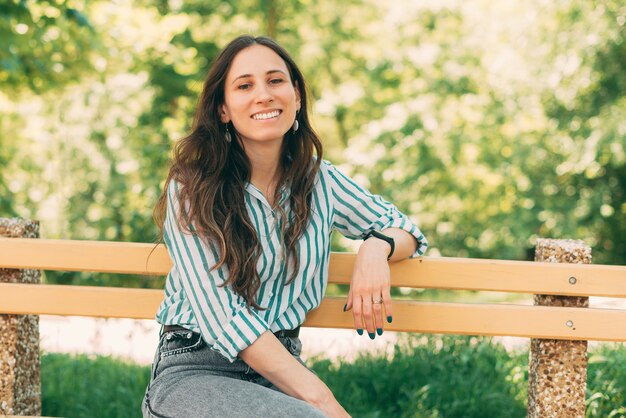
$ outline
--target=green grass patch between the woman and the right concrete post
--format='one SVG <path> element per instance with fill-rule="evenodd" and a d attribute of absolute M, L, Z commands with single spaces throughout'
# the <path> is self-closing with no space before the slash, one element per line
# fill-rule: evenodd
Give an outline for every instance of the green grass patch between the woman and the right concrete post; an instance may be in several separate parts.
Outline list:
<path fill-rule="evenodd" d="M 486 338 L 408 336 L 390 359 L 312 368 L 354 417 L 523 417 L 525 363 Z"/>

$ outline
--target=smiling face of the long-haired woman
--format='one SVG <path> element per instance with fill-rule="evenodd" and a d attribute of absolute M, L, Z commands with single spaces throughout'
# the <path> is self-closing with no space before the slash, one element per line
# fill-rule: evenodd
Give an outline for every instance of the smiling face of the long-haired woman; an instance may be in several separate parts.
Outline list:
<path fill-rule="evenodd" d="M 224 85 L 222 122 L 232 121 L 244 141 L 282 141 L 300 110 L 285 61 L 270 48 L 252 45 L 233 60 Z"/>

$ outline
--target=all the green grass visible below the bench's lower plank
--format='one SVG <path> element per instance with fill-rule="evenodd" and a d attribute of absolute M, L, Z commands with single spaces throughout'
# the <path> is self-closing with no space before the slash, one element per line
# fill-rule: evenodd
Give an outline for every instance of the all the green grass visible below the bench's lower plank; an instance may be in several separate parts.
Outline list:
<path fill-rule="evenodd" d="M 489 338 L 403 334 L 393 356 L 308 364 L 355 418 L 526 416 L 528 353 Z M 150 368 L 107 356 L 43 354 L 43 414 L 140 417 Z M 590 351 L 587 417 L 626 417 L 626 346 Z"/>

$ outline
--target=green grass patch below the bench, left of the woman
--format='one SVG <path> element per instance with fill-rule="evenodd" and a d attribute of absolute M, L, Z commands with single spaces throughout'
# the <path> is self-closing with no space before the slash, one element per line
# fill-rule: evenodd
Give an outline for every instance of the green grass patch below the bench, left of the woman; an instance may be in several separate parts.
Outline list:
<path fill-rule="evenodd" d="M 43 354 L 43 415 L 73 418 L 140 417 L 141 400 L 149 381 L 149 367 L 111 357 Z"/>

